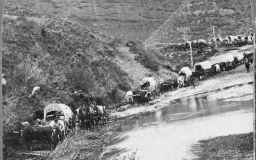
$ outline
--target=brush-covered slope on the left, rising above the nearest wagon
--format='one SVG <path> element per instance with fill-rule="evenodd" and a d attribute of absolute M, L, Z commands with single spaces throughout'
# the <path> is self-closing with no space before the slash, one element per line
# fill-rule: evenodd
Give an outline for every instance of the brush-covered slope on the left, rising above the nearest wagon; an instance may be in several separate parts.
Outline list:
<path fill-rule="evenodd" d="M 42 28 L 46 36 L 41 35 Z M 115 45 L 67 20 L 5 18 L 4 125 L 16 120 L 32 122 L 36 111 L 51 102 L 74 109 L 89 100 L 99 105 L 122 100 L 131 79 L 113 60 L 118 54 Z M 40 91 L 31 96 L 35 86 Z M 84 96 L 74 94 L 77 90 Z"/>

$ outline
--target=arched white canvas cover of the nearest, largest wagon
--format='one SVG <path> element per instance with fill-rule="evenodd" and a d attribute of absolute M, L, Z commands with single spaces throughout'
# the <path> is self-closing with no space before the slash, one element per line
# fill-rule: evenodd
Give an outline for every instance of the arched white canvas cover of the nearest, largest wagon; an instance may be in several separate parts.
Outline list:
<path fill-rule="evenodd" d="M 52 103 L 44 108 L 44 118 L 46 118 L 47 113 L 49 113 L 51 111 L 62 112 L 63 115 L 65 116 L 66 121 L 68 121 L 69 118 L 72 118 L 72 115 L 73 115 L 72 110 L 65 104 Z"/>

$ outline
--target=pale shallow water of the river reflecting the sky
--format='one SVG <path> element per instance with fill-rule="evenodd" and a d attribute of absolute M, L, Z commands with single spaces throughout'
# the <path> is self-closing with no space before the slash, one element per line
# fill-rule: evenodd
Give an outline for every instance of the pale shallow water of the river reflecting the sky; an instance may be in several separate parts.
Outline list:
<path fill-rule="evenodd" d="M 241 99 L 253 94 L 253 90 L 244 92 L 251 87 L 240 85 L 173 100 L 167 108 L 137 120 L 131 131 L 111 137 L 103 159 L 122 159 L 137 149 L 140 159 L 194 159 L 191 146 L 198 140 L 252 132 L 253 113 L 246 108 L 252 108 L 253 99 Z M 232 98 L 240 99 L 227 100 Z"/>

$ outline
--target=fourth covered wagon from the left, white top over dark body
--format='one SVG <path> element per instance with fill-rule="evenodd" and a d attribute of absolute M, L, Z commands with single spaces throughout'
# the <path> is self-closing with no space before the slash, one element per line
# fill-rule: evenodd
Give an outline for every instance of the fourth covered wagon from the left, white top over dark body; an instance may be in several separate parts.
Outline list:
<path fill-rule="evenodd" d="M 209 61 L 195 63 L 195 72 L 198 72 L 200 77 L 214 76 L 212 65 Z M 193 74 L 193 73 L 192 73 Z"/>

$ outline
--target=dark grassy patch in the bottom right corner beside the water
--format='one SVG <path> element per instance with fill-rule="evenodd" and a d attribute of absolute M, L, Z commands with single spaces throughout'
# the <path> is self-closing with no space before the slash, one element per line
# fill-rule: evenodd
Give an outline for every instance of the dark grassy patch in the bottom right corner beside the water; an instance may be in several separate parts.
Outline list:
<path fill-rule="evenodd" d="M 253 132 L 200 140 L 193 150 L 198 159 L 253 159 Z"/>

